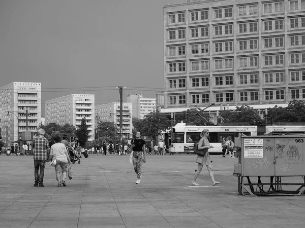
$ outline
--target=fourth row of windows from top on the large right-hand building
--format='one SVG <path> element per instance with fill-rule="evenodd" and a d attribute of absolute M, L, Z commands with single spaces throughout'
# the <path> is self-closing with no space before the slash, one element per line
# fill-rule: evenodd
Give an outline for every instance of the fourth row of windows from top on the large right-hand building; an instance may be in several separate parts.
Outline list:
<path fill-rule="evenodd" d="M 289 54 L 289 64 L 299 64 L 305 63 L 305 52 L 303 53 L 290 53 Z M 233 69 L 233 58 L 223 58 L 223 59 L 214 59 L 213 60 L 214 70 L 224 70 L 224 69 Z M 262 57 L 263 67 L 268 66 L 284 66 L 284 54 L 272 54 L 264 55 Z M 258 68 L 258 56 L 243 56 L 237 57 L 237 69 L 242 68 Z M 168 63 L 168 72 L 177 73 L 177 72 L 186 72 L 186 62 L 169 62 Z M 190 72 L 200 72 L 200 71 L 210 71 L 209 59 L 203 60 L 190 60 Z"/>

